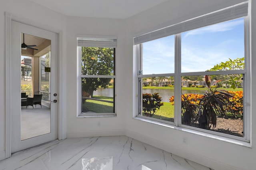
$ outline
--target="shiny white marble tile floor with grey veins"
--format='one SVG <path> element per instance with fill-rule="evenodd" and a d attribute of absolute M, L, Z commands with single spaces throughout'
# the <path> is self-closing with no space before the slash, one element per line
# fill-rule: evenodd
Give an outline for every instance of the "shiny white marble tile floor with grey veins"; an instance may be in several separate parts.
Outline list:
<path fill-rule="evenodd" d="M 211 170 L 127 136 L 67 138 L 0 161 L 0 170 Z"/>

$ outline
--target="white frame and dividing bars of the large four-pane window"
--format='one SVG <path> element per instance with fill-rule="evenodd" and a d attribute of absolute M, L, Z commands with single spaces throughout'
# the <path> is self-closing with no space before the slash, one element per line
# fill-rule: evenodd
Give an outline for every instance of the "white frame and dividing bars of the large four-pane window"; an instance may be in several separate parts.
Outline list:
<path fill-rule="evenodd" d="M 248 2 L 246 2 L 248 3 Z M 232 8 L 232 7 L 231 7 Z M 207 14 L 206 14 L 207 15 Z M 204 15 L 205 16 L 205 15 Z M 204 17 L 203 16 L 203 17 Z M 250 13 L 248 12 L 247 16 L 243 16 L 244 17 L 244 69 L 243 70 L 230 70 L 230 71 L 207 71 L 207 75 L 223 75 L 223 74 L 244 74 L 244 88 L 243 88 L 243 93 L 244 93 L 244 119 L 243 119 L 243 128 L 244 128 L 244 136 L 243 137 L 239 137 L 239 136 L 234 136 L 234 135 L 229 135 L 229 134 L 224 134 L 224 133 L 220 133 L 220 132 L 214 132 L 214 131 L 210 131 L 210 130 L 206 130 L 206 129 L 201 129 L 201 128 L 196 128 L 196 127 L 190 127 L 188 125 L 182 125 L 182 116 L 181 116 L 181 93 L 182 93 L 182 89 L 181 89 L 181 77 L 182 76 L 190 76 L 190 75 L 206 75 L 205 71 L 199 71 L 199 72 L 181 72 L 181 34 L 177 33 L 177 34 L 172 34 L 175 35 L 175 55 L 174 55 L 174 73 L 167 73 L 167 74 L 150 74 L 150 75 L 142 75 L 140 74 L 140 68 L 142 68 L 142 45 L 144 42 L 142 43 L 136 43 L 136 41 L 140 41 L 140 40 L 135 40 L 134 38 L 134 44 L 135 44 L 135 49 L 136 49 L 136 59 L 137 59 L 137 79 L 138 79 L 138 113 L 136 114 L 135 117 L 138 117 L 140 119 L 144 119 L 144 120 L 150 120 L 150 121 L 154 121 L 157 122 L 157 124 L 159 125 L 159 123 L 163 123 L 160 125 L 166 126 L 166 124 L 170 125 L 171 127 L 174 128 L 186 128 L 188 129 L 188 131 L 192 132 L 192 131 L 196 131 L 196 133 L 198 132 L 202 132 L 202 133 L 206 133 L 207 136 L 208 134 L 210 136 L 212 135 L 216 135 L 216 136 L 221 136 L 224 138 L 231 138 L 234 140 L 240 140 L 243 142 L 250 142 L 250 133 L 251 133 L 251 123 L 250 123 L 250 117 L 251 117 L 251 107 L 250 107 L 250 103 L 251 103 L 251 55 L 250 55 Z M 200 18 L 200 17 L 198 17 Z M 197 18 L 197 19 L 198 19 Z M 237 18 L 242 18 L 242 17 L 237 17 Z M 233 18 L 236 19 L 236 18 Z M 231 20 L 233 20 L 231 19 Z M 193 20 L 193 19 L 191 19 Z M 190 21 L 190 20 L 189 20 Z M 228 20 L 227 20 L 228 21 Z M 217 22 L 215 24 L 221 23 L 223 21 Z M 182 22 L 183 24 L 186 24 L 185 22 Z M 214 25 L 214 24 L 210 24 L 210 25 Z M 163 28 L 166 29 L 166 28 Z M 198 28 L 196 28 L 198 29 Z M 161 30 L 161 29 L 160 29 Z M 193 29 L 192 29 L 193 30 Z M 159 31 L 159 30 L 157 30 Z M 156 32 L 157 32 L 156 31 Z M 189 31 L 189 30 L 186 30 Z M 150 35 L 151 33 L 148 33 L 148 35 Z M 146 35 L 146 34 L 145 34 Z M 144 35 L 143 35 L 144 36 Z M 166 37 L 166 36 L 170 36 L 170 35 L 165 35 L 162 37 Z M 141 36 L 139 36 L 140 38 Z M 145 36 L 144 36 L 145 37 Z M 160 37 L 160 38 L 162 38 Z M 147 39 L 147 38 L 145 38 Z M 154 39 L 153 39 L 154 40 Z M 142 40 L 143 41 L 143 40 Z M 152 39 L 148 39 L 145 42 L 148 41 L 152 41 Z M 154 118 L 150 118 L 150 117 L 145 117 L 142 116 L 140 113 L 142 113 L 142 82 L 140 81 L 143 77 L 162 77 L 162 76 L 174 76 L 174 103 L 175 103 L 175 107 L 174 107 L 174 122 L 169 122 L 169 121 L 163 121 L 160 119 L 154 119 Z"/>

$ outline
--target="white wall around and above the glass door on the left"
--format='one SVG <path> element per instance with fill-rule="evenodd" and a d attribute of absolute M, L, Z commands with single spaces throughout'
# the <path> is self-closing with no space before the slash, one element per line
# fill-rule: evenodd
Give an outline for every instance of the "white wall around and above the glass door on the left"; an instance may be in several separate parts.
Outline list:
<path fill-rule="evenodd" d="M 5 157 L 5 39 L 4 39 L 4 12 L 12 14 L 22 22 L 38 26 L 40 28 L 48 28 L 54 32 L 59 30 L 65 33 L 65 18 L 57 12 L 53 12 L 48 8 L 44 8 L 29 0 L 1 0 L 0 2 L 0 160 Z M 61 42 L 65 46 L 66 39 Z M 65 48 L 66 49 L 66 48 Z M 62 57 L 66 57 L 63 53 Z M 62 113 L 65 115 L 65 112 Z M 65 122 L 65 116 L 64 120 Z M 64 132 L 66 127 L 64 127 Z"/>

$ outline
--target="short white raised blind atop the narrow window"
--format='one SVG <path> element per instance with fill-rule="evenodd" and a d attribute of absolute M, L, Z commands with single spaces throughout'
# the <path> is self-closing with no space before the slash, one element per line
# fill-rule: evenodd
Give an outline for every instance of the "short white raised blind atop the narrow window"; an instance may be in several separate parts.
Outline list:
<path fill-rule="evenodd" d="M 116 48 L 117 40 L 104 38 L 77 38 L 77 45 L 80 47 Z"/>

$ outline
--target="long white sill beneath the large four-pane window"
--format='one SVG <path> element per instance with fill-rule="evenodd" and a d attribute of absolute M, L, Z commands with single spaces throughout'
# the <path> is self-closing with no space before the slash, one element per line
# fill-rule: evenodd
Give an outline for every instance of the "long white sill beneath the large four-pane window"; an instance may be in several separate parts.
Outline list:
<path fill-rule="evenodd" d="M 152 120 L 144 119 L 144 118 L 141 118 L 141 117 L 134 117 L 133 119 L 148 122 L 148 123 L 152 123 L 152 124 L 155 124 L 155 125 L 160 125 L 160 126 L 163 126 L 163 127 L 176 129 L 176 130 L 181 130 L 183 132 L 188 132 L 188 133 L 193 133 L 193 134 L 197 134 L 197 135 L 200 135 L 200 136 L 205 136 L 205 137 L 208 137 L 208 138 L 222 140 L 224 142 L 229 142 L 229 143 L 232 143 L 232 144 L 238 144 L 240 146 L 245 146 L 245 147 L 248 147 L 248 148 L 252 148 L 252 145 L 250 144 L 250 142 L 244 142 L 244 141 L 240 141 L 240 140 L 236 140 L 236 139 L 231 139 L 231 138 L 227 138 L 227 137 L 223 137 L 223 136 L 218 136 L 218 135 L 215 135 L 215 134 L 200 132 L 200 131 L 192 130 L 192 129 L 189 129 L 189 128 L 176 127 L 175 125 L 169 125 L 169 124 L 166 124 L 166 123 L 161 123 L 161 122 L 158 122 L 158 121 L 152 121 Z"/>

